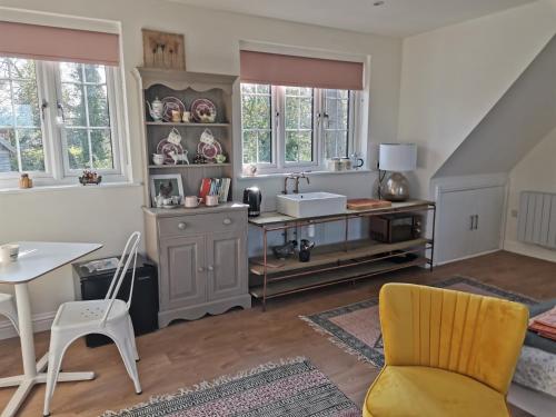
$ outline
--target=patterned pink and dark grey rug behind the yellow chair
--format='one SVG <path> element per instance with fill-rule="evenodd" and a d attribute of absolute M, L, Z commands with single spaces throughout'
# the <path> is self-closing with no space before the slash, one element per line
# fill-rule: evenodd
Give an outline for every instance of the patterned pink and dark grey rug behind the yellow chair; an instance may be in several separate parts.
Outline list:
<path fill-rule="evenodd" d="M 433 284 L 433 287 L 449 288 L 459 291 L 505 298 L 512 301 L 534 305 L 527 296 L 506 291 L 473 278 L 451 277 Z M 384 349 L 378 317 L 378 298 L 338 307 L 311 316 L 301 316 L 317 331 L 329 336 L 329 340 L 360 360 L 379 368 L 384 366 Z"/>

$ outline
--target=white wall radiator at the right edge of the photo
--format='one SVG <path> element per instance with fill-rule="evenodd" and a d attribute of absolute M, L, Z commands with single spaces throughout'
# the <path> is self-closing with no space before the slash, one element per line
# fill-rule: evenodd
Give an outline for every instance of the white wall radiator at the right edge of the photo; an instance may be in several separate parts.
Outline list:
<path fill-rule="evenodd" d="M 556 249 L 556 195 L 522 191 L 517 239 Z"/>

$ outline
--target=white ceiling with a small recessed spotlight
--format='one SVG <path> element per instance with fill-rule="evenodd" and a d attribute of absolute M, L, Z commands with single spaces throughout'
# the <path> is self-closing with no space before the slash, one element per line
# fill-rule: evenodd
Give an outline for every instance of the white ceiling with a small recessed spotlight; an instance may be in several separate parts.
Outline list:
<path fill-rule="evenodd" d="M 300 23 L 407 37 L 534 0 L 172 0 Z"/>

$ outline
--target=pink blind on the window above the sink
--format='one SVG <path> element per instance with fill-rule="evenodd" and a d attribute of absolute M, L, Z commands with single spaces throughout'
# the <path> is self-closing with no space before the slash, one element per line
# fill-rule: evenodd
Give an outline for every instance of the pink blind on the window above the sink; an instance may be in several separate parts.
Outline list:
<path fill-rule="evenodd" d="M 240 51 L 241 81 L 275 86 L 363 90 L 363 63 Z"/>

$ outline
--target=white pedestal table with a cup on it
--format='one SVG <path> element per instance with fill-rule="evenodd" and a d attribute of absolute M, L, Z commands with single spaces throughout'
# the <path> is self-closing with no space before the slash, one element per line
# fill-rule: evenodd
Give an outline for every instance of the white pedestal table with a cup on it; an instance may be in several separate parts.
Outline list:
<path fill-rule="evenodd" d="M 28 284 L 102 247 L 99 244 L 43 241 L 20 241 L 18 244 L 20 245 L 18 261 L 0 264 L 0 282 L 13 285 L 16 288 L 23 375 L 0 379 L 0 388 L 19 386 L 3 409 L 1 417 L 14 416 L 32 387 L 47 381 L 47 374 L 43 370 L 48 365 L 48 353 L 39 361 L 37 361 L 34 354 Z M 60 373 L 58 380 L 71 381 L 93 378 L 95 373 Z"/>

